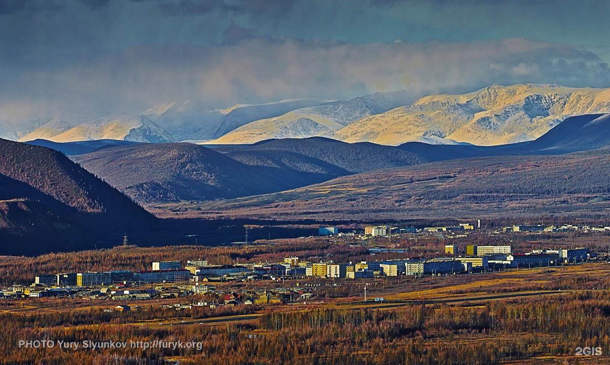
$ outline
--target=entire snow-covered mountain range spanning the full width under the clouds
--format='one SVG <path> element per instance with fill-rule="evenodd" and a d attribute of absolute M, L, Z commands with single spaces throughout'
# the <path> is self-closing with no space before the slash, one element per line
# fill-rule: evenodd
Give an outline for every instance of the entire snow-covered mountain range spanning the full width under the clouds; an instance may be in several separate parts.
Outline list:
<path fill-rule="evenodd" d="M 567 117 L 610 112 L 610 89 L 490 85 L 462 95 L 421 96 L 406 90 L 348 101 L 290 99 L 228 109 L 190 99 L 140 114 L 38 116 L 21 122 L 0 118 L 0 137 L 220 145 L 319 136 L 382 145 L 503 145 L 534 140 Z"/>

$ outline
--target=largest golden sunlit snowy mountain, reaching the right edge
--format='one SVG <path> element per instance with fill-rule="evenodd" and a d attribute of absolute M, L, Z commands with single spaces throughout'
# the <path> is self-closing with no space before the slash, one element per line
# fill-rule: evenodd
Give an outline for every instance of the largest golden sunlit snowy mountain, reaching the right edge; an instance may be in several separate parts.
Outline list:
<path fill-rule="evenodd" d="M 334 137 L 386 145 L 423 139 L 500 145 L 536 139 L 573 115 L 602 112 L 610 112 L 610 89 L 491 85 L 463 95 L 426 96 L 410 106 L 362 118 Z"/>

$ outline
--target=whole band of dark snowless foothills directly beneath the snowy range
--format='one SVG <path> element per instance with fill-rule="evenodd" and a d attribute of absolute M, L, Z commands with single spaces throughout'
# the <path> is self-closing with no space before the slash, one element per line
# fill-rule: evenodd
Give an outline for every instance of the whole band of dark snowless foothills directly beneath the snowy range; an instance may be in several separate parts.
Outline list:
<path fill-rule="evenodd" d="M 129 197 L 142 204 L 161 204 L 260 195 L 354 173 L 447 159 L 592 150 L 610 145 L 603 132 L 606 128 L 610 128 L 606 114 L 570 117 L 537 140 L 501 146 L 421 142 L 385 146 L 323 137 L 207 147 L 190 143 L 32 143 L 79 154 L 72 157 L 74 161 Z"/>

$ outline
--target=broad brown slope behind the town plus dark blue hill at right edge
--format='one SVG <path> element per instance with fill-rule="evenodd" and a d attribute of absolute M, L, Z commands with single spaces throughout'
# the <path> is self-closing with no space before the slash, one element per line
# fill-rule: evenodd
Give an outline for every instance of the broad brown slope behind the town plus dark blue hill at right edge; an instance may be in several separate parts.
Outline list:
<path fill-rule="evenodd" d="M 537 140 L 514 145 L 406 143 L 397 148 L 417 150 L 439 162 L 346 175 L 254 197 L 181 204 L 181 214 L 371 221 L 477 215 L 606 217 L 608 128 L 610 115 L 583 115 L 566 119 Z"/>

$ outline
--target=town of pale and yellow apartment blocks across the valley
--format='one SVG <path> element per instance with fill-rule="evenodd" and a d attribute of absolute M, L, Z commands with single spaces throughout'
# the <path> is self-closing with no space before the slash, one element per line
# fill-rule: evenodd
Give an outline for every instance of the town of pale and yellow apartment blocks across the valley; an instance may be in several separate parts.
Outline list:
<path fill-rule="evenodd" d="M 493 229 L 487 234 L 559 233 L 570 231 L 608 231 L 610 227 L 592 226 L 525 226 L 515 225 Z M 459 223 L 456 226 L 424 228 L 397 228 L 392 226 L 365 226 L 363 231 L 339 232 L 334 226 L 323 226 L 320 237 L 348 239 L 354 242 L 392 237 L 426 237 L 441 235 L 443 239 L 468 237 L 468 233 L 483 231 L 480 221 Z M 127 242 L 127 237 L 124 237 Z M 373 255 L 391 252 L 408 255 L 404 248 L 376 245 L 368 249 Z M 441 248 L 442 250 L 442 248 Z M 109 270 L 106 272 L 37 273 L 29 286 L 12 285 L 0 290 L 4 300 L 43 297 L 88 298 L 91 300 L 138 301 L 157 298 L 179 298 L 204 294 L 207 300 L 182 304 L 190 306 L 267 305 L 298 303 L 314 300 L 320 285 L 337 286 L 337 280 L 383 280 L 405 277 L 417 280 L 424 276 L 469 275 L 506 270 L 524 270 L 534 267 L 558 267 L 587 261 L 598 261 L 588 247 L 548 247 L 529 251 L 515 251 L 511 245 L 445 244 L 443 255 L 437 257 L 404 257 L 380 260 L 318 262 L 288 256 L 281 262 L 240 264 L 214 264 L 206 259 L 151 262 L 149 270 Z M 325 280 L 325 281 L 324 281 Z M 226 290 L 226 283 L 274 283 L 272 289 L 265 284 L 242 292 Z M 363 287 L 363 300 L 367 300 Z M 382 300 L 382 298 L 375 298 Z"/>

